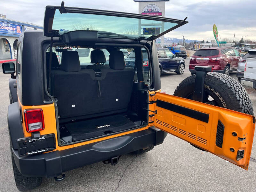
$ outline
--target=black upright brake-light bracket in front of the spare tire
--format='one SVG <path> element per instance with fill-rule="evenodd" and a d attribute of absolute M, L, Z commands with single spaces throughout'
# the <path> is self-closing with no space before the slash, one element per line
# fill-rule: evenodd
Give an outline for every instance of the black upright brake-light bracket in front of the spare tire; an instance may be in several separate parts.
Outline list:
<path fill-rule="evenodd" d="M 204 100 L 204 78 L 208 72 L 212 72 L 212 67 L 195 66 L 196 79 L 193 92 L 193 100 L 203 102 Z"/>

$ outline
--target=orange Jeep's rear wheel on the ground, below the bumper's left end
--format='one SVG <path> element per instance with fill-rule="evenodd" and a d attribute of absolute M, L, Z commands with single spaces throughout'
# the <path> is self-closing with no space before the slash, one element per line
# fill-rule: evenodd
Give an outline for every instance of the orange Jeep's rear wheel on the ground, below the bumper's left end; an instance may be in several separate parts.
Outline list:
<path fill-rule="evenodd" d="M 12 168 L 13 168 L 13 173 L 14 173 L 14 179 L 17 188 L 20 191 L 27 191 L 34 189 L 36 187 L 39 187 L 42 183 L 42 177 L 25 177 L 23 176 L 20 171 L 18 170 L 16 163 L 14 161 L 14 157 L 12 154 L 12 146 L 11 148 L 11 156 L 12 156 Z M 28 167 L 29 169 L 29 167 Z"/>

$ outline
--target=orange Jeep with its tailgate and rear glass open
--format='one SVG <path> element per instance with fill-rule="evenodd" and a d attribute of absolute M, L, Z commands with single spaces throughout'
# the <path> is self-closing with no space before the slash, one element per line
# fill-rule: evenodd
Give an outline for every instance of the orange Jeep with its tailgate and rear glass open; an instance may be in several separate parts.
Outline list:
<path fill-rule="evenodd" d="M 23 32 L 16 67 L 2 65 L 11 74 L 8 128 L 17 188 L 38 187 L 42 177 L 60 181 L 63 172 L 99 161 L 116 164 L 123 154 L 163 143 L 167 133 L 247 170 L 255 118 L 241 84 L 196 67 L 175 96 L 160 92 L 155 39 L 186 23 L 63 2 L 46 6 L 44 31 Z M 134 50 L 134 67 L 125 66 L 120 49 Z"/>

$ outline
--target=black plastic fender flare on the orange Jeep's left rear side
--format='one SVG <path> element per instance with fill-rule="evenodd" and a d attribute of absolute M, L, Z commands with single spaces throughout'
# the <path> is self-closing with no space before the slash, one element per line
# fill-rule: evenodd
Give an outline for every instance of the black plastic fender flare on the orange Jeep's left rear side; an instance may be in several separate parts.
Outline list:
<path fill-rule="evenodd" d="M 10 143 L 13 149 L 18 149 L 17 140 L 24 137 L 22 128 L 22 112 L 18 102 L 8 106 L 7 123 L 10 135 Z"/>

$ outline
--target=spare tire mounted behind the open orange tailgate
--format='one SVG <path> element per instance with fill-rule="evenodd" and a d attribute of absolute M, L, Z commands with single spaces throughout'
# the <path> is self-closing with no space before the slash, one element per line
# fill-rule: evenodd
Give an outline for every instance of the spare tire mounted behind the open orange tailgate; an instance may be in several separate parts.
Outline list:
<path fill-rule="evenodd" d="M 192 99 L 196 76 L 184 79 L 176 88 L 174 95 Z M 253 115 L 252 102 L 235 79 L 222 73 L 207 73 L 204 79 L 204 103 L 228 108 Z"/>

